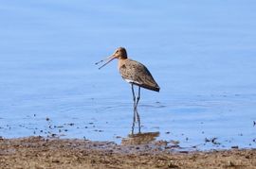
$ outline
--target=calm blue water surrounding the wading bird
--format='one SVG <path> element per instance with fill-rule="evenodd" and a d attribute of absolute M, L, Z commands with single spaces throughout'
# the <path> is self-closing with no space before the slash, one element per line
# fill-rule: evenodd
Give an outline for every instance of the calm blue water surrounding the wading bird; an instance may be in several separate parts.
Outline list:
<path fill-rule="evenodd" d="M 0 4 L 0 136 L 119 143 L 131 130 L 131 89 L 117 60 L 94 63 L 124 46 L 161 87 L 141 93 L 142 132 L 256 147 L 255 1 Z"/>

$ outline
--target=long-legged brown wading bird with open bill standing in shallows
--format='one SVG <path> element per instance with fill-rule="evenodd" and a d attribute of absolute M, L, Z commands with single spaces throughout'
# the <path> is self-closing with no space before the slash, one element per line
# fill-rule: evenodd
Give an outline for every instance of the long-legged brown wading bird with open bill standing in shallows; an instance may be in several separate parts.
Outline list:
<path fill-rule="evenodd" d="M 99 64 L 102 61 L 106 61 L 99 69 L 105 66 L 113 59 L 119 59 L 119 73 L 122 78 L 131 84 L 133 99 L 134 99 L 134 118 L 132 126 L 132 134 L 134 134 L 135 123 L 138 123 L 138 133 L 140 133 L 140 118 L 137 112 L 137 104 L 140 99 L 140 87 L 151 91 L 159 92 L 160 88 L 155 82 L 155 79 L 149 72 L 149 70 L 143 64 L 127 58 L 125 48 L 119 47 L 115 53 L 107 59 L 95 63 Z M 138 86 L 137 98 L 134 90 L 134 85 Z"/>

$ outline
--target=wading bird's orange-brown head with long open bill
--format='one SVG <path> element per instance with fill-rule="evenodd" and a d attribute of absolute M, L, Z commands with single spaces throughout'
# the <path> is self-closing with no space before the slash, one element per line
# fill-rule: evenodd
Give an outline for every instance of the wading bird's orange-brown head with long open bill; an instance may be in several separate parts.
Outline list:
<path fill-rule="evenodd" d="M 102 61 L 106 61 L 99 69 L 101 69 L 103 66 L 105 66 L 107 63 L 109 63 L 110 61 L 112 61 L 113 59 L 127 59 L 127 53 L 124 47 L 119 47 L 114 54 L 112 54 L 110 57 L 106 58 L 106 59 L 101 59 L 101 61 L 95 63 L 95 64 L 99 64 Z"/>

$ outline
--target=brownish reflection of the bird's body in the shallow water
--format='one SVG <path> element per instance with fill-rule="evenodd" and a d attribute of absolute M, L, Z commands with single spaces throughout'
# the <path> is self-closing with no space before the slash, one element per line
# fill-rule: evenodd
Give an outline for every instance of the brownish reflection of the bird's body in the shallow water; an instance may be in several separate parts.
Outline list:
<path fill-rule="evenodd" d="M 121 140 L 122 145 L 150 144 L 159 136 L 159 132 L 144 132 L 129 134 L 127 138 Z"/>

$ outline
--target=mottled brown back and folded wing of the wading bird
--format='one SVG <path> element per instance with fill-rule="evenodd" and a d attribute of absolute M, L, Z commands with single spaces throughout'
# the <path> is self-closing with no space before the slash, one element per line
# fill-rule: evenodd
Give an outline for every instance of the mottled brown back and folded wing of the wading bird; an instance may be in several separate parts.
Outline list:
<path fill-rule="evenodd" d="M 155 82 L 154 77 L 143 64 L 132 60 L 125 59 L 119 66 L 119 72 L 122 78 L 129 83 L 133 83 L 142 88 L 159 92 L 160 88 Z"/>

